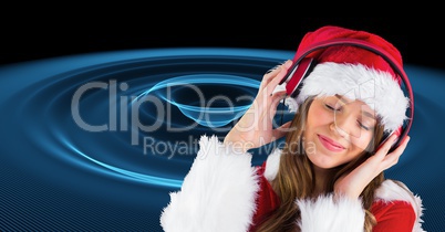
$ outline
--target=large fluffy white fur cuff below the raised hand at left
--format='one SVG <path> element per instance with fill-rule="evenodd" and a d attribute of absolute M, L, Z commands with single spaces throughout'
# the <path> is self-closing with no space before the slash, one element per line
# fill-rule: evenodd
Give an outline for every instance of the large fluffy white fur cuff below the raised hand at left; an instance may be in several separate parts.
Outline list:
<path fill-rule="evenodd" d="M 179 191 L 161 215 L 165 232 L 245 232 L 259 190 L 251 155 L 203 136 L 199 151 Z"/>

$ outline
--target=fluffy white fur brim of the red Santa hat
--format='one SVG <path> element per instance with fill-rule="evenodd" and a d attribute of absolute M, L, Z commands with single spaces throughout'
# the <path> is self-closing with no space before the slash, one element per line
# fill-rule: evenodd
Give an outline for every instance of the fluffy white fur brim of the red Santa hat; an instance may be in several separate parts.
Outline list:
<path fill-rule="evenodd" d="M 392 131 L 406 119 L 408 98 L 399 83 L 387 72 L 369 68 L 362 64 L 318 64 L 301 83 L 301 92 L 294 98 L 287 98 L 289 110 L 296 112 L 309 96 L 334 96 L 366 103 L 381 117 L 385 131 Z"/>

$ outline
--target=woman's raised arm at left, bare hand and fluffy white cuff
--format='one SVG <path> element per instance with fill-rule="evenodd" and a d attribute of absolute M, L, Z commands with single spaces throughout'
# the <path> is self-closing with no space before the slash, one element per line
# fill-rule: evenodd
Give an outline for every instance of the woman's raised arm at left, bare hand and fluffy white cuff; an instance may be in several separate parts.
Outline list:
<path fill-rule="evenodd" d="M 284 124 L 273 128 L 273 116 L 283 92 L 273 93 L 291 61 L 265 74 L 256 99 L 225 137 L 203 136 L 199 151 L 180 190 L 170 193 L 161 224 L 166 232 L 240 231 L 251 226 L 257 209 L 259 176 L 251 166 L 250 148 L 284 136 Z"/>

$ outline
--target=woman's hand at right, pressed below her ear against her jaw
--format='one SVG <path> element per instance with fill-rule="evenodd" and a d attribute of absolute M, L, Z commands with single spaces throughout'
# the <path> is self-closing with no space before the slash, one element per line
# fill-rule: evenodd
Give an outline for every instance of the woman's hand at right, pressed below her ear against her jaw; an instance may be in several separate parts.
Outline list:
<path fill-rule="evenodd" d="M 372 179 L 380 172 L 397 164 L 399 158 L 402 156 L 410 141 L 410 136 L 407 136 L 394 151 L 387 154 L 395 139 L 396 136 L 392 135 L 374 156 L 371 156 L 350 173 L 337 180 L 334 184 L 335 194 L 358 199 Z"/>

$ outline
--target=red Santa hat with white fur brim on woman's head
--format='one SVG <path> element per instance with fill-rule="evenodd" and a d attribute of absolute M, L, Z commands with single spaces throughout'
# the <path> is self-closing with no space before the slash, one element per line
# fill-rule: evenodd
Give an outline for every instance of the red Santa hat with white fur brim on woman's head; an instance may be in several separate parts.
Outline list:
<path fill-rule="evenodd" d="M 354 39 L 376 45 L 402 66 L 402 56 L 397 49 L 381 36 L 331 25 L 307 33 L 293 62 L 297 62 L 309 46 L 337 39 Z M 380 117 L 385 131 L 397 129 L 407 118 L 405 113 L 410 98 L 401 88 L 400 73 L 395 73 L 390 63 L 375 52 L 345 44 L 319 49 L 306 57 L 313 59 L 317 65 L 302 81 L 298 96 L 286 99 L 286 105 L 291 112 L 296 112 L 298 105 L 310 96 L 342 95 L 366 103 Z"/>

